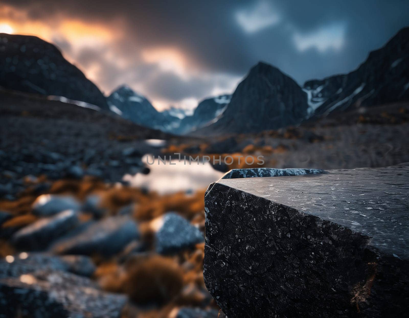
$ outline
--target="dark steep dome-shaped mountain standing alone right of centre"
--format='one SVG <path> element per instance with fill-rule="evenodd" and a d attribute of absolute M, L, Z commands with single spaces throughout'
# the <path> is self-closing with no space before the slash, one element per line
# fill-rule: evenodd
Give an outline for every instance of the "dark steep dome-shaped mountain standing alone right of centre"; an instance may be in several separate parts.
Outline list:
<path fill-rule="evenodd" d="M 238 85 L 222 117 L 203 131 L 242 133 L 297 125 L 307 109 L 301 87 L 276 67 L 260 62 Z"/>

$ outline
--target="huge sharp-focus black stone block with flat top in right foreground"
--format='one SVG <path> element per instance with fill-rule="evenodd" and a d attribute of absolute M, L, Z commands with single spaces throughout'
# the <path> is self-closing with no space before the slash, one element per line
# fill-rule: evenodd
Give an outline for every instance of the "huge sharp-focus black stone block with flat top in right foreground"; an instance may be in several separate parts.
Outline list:
<path fill-rule="evenodd" d="M 205 196 L 207 288 L 229 318 L 409 310 L 409 166 L 220 179 Z"/>

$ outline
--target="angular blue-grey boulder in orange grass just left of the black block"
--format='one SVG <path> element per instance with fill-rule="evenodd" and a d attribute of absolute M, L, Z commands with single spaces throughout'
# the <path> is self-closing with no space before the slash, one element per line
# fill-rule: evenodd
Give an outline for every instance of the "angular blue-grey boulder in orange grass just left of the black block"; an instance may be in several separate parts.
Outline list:
<path fill-rule="evenodd" d="M 204 237 L 196 226 L 176 213 L 166 213 L 156 233 L 156 251 L 172 253 L 203 241 Z"/>

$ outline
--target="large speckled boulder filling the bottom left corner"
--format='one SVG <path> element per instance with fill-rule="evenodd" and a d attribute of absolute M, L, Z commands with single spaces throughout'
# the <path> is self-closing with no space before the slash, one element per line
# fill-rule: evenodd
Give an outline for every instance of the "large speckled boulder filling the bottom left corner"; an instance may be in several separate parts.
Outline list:
<path fill-rule="evenodd" d="M 126 297 L 70 273 L 39 271 L 0 279 L 0 318 L 119 318 Z"/>

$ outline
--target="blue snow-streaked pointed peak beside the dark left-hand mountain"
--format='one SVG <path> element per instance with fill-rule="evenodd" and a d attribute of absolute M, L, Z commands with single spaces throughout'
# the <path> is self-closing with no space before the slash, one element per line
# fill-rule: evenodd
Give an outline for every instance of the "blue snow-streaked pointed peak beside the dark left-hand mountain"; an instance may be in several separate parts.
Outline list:
<path fill-rule="evenodd" d="M 177 117 L 158 112 L 144 96 L 122 85 L 107 98 L 109 108 L 118 115 L 149 128 L 170 132 L 179 126 Z"/>

